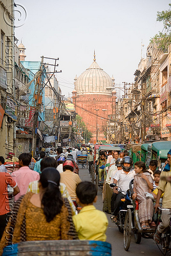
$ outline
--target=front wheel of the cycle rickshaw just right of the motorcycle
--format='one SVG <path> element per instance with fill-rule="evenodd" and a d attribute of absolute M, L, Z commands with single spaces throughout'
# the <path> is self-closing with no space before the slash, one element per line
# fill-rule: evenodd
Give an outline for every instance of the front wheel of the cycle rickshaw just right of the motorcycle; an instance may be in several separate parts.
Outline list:
<path fill-rule="evenodd" d="M 123 231 L 123 245 L 125 251 L 129 250 L 131 243 L 131 223 L 132 214 L 131 209 L 128 209 L 125 215 L 124 231 Z"/>

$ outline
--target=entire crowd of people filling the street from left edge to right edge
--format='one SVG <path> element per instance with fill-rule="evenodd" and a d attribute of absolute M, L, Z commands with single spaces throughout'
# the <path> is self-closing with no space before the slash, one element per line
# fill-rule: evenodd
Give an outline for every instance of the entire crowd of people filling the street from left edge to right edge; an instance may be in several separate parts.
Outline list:
<path fill-rule="evenodd" d="M 18 156 L 19 169 L 7 172 L 5 159 L 0 156 L 0 253 L 7 245 L 36 240 L 106 240 L 108 219 L 118 221 L 118 212 L 130 182 L 134 179 L 133 200 L 139 203 L 139 220 L 142 229 L 156 227 L 155 212 L 161 204 L 171 208 L 170 176 L 171 150 L 161 172 L 158 162 L 152 160 L 149 169 L 145 163 L 133 163 L 127 151 L 101 151 L 96 165 L 99 182 L 105 180 L 103 209 L 93 205 L 97 201 L 96 186 L 81 181 L 76 163 L 79 155 L 87 155 L 89 173 L 94 164 L 94 152 L 86 147 L 58 147 L 55 155 L 47 156 L 47 148 L 38 153 L 40 160 L 34 161 L 30 153 Z M 53 150 L 54 152 L 54 150 Z M 10 160 L 14 155 L 10 154 Z M 8 160 L 9 160 L 8 158 Z M 34 162 L 34 167 L 30 164 Z M 31 166 L 32 168 L 30 168 Z M 105 172 L 104 172 L 105 171 Z M 116 184 L 114 188 L 110 184 Z M 10 192 L 9 187 L 13 188 Z M 119 193 L 119 188 L 121 193 Z M 81 206 L 76 214 L 77 206 Z M 105 212 L 105 213 L 104 213 Z M 170 212 L 162 212 L 161 223 L 155 233 L 155 241 L 169 226 Z M 10 232 L 9 232 L 10 230 Z"/>

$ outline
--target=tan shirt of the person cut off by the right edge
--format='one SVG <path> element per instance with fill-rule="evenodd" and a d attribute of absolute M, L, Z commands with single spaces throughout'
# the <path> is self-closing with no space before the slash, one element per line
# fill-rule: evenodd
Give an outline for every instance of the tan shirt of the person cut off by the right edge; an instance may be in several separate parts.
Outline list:
<path fill-rule="evenodd" d="M 168 176 L 171 176 L 170 172 L 161 172 L 159 186 L 157 188 L 164 192 L 162 207 L 171 209 L 171 183 L 161 179 L 161 177 Z"/>

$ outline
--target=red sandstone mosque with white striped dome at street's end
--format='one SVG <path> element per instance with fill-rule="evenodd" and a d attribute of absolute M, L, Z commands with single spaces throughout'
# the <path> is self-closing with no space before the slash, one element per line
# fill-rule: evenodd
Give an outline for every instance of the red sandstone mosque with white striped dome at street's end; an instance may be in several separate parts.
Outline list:
<path fill-rule="evenodd" d="M 91 143 L 106 140 L 104 136 L 108 118 L 114 114 L 116 104 L 115 79 L 101 69 L 95 58 L 91 66 L 74 79 L 72 99 L 76 113 L 82 117 L 93 134 Z"/>

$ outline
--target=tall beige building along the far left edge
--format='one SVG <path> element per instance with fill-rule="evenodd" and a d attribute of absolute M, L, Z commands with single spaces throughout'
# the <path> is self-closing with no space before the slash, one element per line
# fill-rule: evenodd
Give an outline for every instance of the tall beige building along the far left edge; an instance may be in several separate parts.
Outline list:
<path fill-rule="evenodd" d="M 0 155 L 15 153 L 14 3 L 0 2 Z"/>

